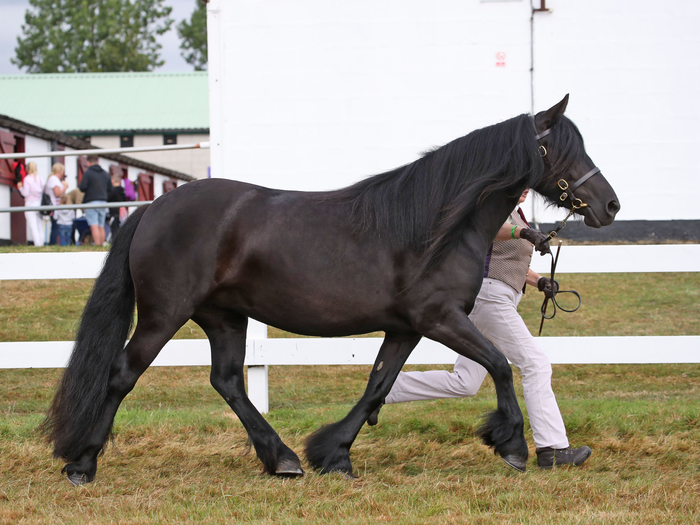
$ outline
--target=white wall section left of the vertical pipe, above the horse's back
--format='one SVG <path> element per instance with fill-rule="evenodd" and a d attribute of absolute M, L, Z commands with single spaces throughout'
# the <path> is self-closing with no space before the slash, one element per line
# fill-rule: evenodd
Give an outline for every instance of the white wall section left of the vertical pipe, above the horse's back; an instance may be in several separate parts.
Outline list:
<path fill-rule="evenodd" d="M 207 9 L 212 176 L 339 188 L 530 109 L 522 1 L 211 0 Z"/>

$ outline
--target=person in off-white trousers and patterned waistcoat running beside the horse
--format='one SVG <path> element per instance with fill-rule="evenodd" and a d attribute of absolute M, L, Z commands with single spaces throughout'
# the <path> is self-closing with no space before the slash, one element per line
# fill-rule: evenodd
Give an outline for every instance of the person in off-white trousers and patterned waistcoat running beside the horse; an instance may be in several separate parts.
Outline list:
<path fill-rule="evenodd" d="M 523 192 L 518 204 L 524 202 L 528 192 Z M 520 207 L 516 207 L 486 254 L 484 283 L 469 314 L 479 331 L 520 370 L 539 468 L 580 465 L 591 455 L 589 447 L 569 446 L 552 391 L 552 365 L 517 312 L 525 283 L 552 297 L 551 279 L 530 269 L 533 244 L 542 254 L 549 253 L 546 239 L 542 232 L 529 228 Z M 559 285 L 556 281 L 553 284 L 556 293 Z M 486 369 L 482 365 L 458 356 L 452 373 L 400 372 L 384 402 L 468 397 L 479 391 L 484 377 Z M 370 414 L 368 424 L 377 424 L 379 409 L 381 405 Z M 524 464 L 508 464 L 525 470 Z"/>

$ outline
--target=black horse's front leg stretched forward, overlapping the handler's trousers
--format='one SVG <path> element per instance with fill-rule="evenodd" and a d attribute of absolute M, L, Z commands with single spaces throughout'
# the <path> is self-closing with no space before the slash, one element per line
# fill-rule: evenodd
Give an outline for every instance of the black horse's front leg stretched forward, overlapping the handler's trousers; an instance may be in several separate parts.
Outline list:
<path fill-rule="evenodd" d="M 438 321 L 423 323 L 419 332 L 482 365 L 496 386 L 498 407 L 486 416 L 477 435 L 485 444 L 493 447 L 503 461 L 524 471 L 528 448 L 523 414 L 515 396 L 513 373 L 508 360 L 477 330 L 461 307 L 450 307 L 437 318 Z"/>

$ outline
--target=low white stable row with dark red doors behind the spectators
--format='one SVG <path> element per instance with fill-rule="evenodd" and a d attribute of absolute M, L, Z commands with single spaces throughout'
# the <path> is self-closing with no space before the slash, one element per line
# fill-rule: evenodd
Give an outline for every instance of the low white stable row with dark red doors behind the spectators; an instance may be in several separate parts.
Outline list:
<path fill-rule="evenodd" d="M 78 187 L 83 172 L 87 169 L 85 156 L 60 155 L 61 151 L 75 151 L 94 148 L 99 155 L 99 165 L 109 174 L 119 174 L 122 179 L 129 179 L 138 188 L 139 200 L 153 200 L 163 193 L 173 190 L 195 178 L 174 169 L 144 162 L 126 155 L 99 153 L 99 148 L 84 139 L 71 137 L 63 133 L 46 130 L 22 120 L 0 115 L 0 153 L 47 153 L 56 151 L 56 157 L 28 157 L 20 159 L 22 164 L 36 162 L 38 176 L 44 181 L 51 173 L 54 162 L 61 162 L 66 167 L 68 189 Z M 177 152 L 174 152 L 177 153 Z M 15 173 L 12 159 L 0 160 L 0 207 L 24 206 L 25 200 L 14 187 Z M 27 228 L 25 214 L 0 214 L 0 244 L 10 242 L 25 244 L 32 241 Z"/>

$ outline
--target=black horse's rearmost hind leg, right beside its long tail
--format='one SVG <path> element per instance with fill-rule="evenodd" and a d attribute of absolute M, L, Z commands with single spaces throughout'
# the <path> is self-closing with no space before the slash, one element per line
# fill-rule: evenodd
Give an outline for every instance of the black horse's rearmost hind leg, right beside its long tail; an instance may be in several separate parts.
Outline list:
<path fill-rule="evenodd" d="M 169 320 L 165 318 L 139 318 L 129 344 L 112 361 L 102 414 L 93 428 L 85 429 L 86 432 L 90 433 L 87 447 L 62 470 L 72 484 L 88 483 L 94 479 L 95 472 L 97 472 L 97 456 L 109 439 L 119 405 L 132 391 L 141 374 L 153 363 L 165 343 L 185 321 L 187 319 L 179 322 L 172 318 Z"/>

